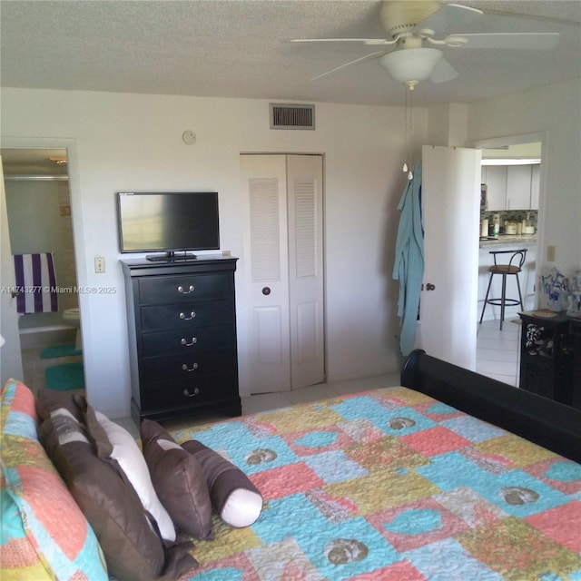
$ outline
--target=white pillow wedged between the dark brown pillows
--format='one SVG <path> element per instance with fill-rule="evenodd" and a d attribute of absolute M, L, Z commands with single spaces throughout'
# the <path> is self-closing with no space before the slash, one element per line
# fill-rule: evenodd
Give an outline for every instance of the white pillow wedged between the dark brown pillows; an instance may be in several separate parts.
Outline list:
<path fill-rule="evenodd" d="M 137 442 L 125 429 L 108 419 L 100 411 L 95 410 L 95 417 L 107 434 L 113 446 L 111 458 L 117 460 L 127 479 L 132 483 L 135 492 L 140 497 L 143 507 L 157 521 L 162 538 L 166 541 L 175 541 L 175 527 L 167 510 L 153 488 L 149 469 L 143 458 Z"/>

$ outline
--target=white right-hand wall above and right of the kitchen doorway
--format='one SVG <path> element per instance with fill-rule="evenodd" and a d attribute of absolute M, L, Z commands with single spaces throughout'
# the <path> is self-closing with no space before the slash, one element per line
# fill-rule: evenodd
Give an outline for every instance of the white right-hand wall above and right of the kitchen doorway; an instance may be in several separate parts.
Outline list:
<path fill-rule="evenodd" d="M 552 84 L 468 106 L 468 141 L 544 133 L 537 271 L 581 270 L 581 81 Z M 547 262 L 547 245 L 556 261 Z"/>

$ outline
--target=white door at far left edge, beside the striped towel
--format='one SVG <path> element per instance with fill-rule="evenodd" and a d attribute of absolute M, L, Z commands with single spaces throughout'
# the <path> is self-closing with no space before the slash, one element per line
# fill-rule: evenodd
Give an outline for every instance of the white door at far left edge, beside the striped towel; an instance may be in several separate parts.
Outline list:
<path fill-rule="evenodd" d="M 18 315 L 16 299 L 13 297 L 15 287 L 15 268 L 10 250 L 10 231 L 8 230 L 8 212 L 6 211 L 6 193 L 4 171 L 0 157 L 0 333 L 4 344 L 0 346 L 0 383 L 6 379 L 24 380 L 22 355 L 20 353 L 20 334 L 18 332 Z"/>

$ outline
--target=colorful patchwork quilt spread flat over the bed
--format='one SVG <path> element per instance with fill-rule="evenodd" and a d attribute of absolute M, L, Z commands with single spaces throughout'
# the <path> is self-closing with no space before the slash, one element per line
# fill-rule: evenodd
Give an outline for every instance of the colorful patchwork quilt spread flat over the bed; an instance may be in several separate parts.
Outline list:
<path fill-rule="evenodd" d="M 406 388 L 172 431 L 249 475 L 192 581 L 581 580 L 581 465 Z"/>

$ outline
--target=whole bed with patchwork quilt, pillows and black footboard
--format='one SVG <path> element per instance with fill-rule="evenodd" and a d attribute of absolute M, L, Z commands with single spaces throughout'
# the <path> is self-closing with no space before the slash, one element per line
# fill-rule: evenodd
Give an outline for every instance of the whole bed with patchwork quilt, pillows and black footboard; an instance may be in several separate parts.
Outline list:
<path fill-rule="evenodd" d="M 209 528 L 192 534 L 192 547 L 181 535 L 164 553 L 137 488 L 107 459 L 119 427 L 86 401 L 79 407 L 81 400 L 51 390 L 35 401 L 9 380 L 0 407 L 0 576 L 581 580 L 581 410 L 419 350 L 400 383 L 180 429 L 145 420 L 143 453 L 129 433 L 123 444 L 135 448 L 134 461 L 148 460 L 155 440 L 144 427 L 154 428 L 172 440 L 162 446 L 162 461 L 200 450 L 227 458 L 237 482 L 260 492 L 251 526 L 226 524 L 212 497 L 206 524 L 213 538 Z M 35 407 L 44 410 L 38 418 Z M 181 497 L 178 473 L 155 466 L 145 468 L 154 483 L 169 477 L 171 534 L 193 495 Z"/>

